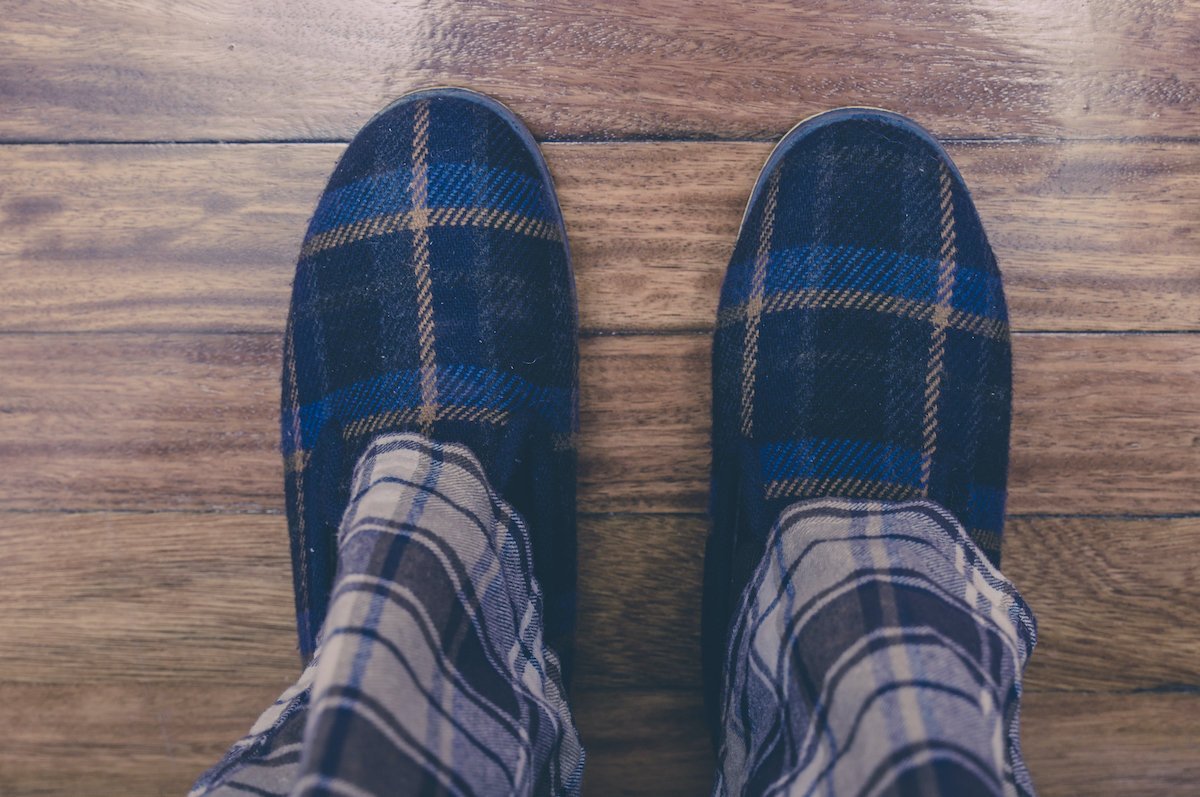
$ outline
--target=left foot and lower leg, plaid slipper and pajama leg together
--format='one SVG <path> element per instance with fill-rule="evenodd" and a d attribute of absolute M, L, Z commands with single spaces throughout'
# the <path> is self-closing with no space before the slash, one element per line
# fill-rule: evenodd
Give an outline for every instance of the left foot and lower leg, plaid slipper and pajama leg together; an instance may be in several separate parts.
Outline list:
<path fill-rule="evenodd" d="M 296 623 L 320 655 L 198 790 L 242 772 L 269 792 L 577 791 L 576 328 L 562 214 L 516 116 L 438 89 L 364 127 L 284 336 Z"/>

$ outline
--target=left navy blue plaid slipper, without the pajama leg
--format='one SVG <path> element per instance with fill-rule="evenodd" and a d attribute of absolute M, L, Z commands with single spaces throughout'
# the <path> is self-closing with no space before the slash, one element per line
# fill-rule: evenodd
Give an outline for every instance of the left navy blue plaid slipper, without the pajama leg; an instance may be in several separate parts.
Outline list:
<path fill-rule="evenodd" d="M 502 104 L 407 95 L 354 138 L 308 226 L 283 353 L 300 651 L 312 655 L 354 465 L 376 436 L 463 443 L 528 522 L 545 639 L 575 627 L 575 280 L 550 172 Z"/>

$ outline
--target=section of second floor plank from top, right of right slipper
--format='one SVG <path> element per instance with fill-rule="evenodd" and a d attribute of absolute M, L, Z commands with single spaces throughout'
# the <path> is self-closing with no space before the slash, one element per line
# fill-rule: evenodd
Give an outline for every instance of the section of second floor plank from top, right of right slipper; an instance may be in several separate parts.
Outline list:
<path fill-rule="evenodd" d="M 950 145 L 1013 329 L 1194 330 L 1200 152 L 1177 144 Z M 1186 197 L 1186 198 L 1184 198 Z"/>

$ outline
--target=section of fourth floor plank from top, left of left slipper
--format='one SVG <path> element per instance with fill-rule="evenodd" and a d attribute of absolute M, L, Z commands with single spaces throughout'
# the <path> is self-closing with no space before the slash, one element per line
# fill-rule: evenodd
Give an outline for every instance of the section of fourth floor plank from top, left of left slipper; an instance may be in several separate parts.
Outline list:
<path fill-rule="evenodd" d="M 282 515 L 0 519 L 0 681 L 282 691 L 300 675 Z"/>

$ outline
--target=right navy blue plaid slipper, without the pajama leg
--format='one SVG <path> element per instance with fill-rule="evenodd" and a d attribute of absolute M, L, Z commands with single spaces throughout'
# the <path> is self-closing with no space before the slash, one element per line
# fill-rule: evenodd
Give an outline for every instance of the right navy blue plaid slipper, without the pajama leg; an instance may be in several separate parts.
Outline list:
<path fill-rule="evenodd" d="M 1001 276 L 946 150 L 869 108 L 793 128 L 750 197 L 713 341 L 709 708 L 730 613 L 788 504 L 929 498 L 998 564 L 1010 413 Z"/>

